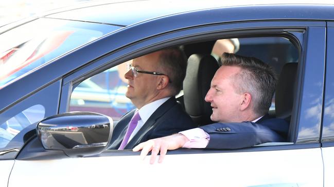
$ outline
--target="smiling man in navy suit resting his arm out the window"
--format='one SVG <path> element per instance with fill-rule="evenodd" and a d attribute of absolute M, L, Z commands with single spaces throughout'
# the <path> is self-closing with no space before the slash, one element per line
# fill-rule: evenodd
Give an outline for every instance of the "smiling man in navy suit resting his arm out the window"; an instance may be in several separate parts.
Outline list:
<path fill-rule="evenodd" d="M 178 148 L 239 149 L 265 142 L 286 141 L 288 123 L 269 118 L 268 111 L 276 86 L 272 68 L 256 58 L 224 53 L 222 66 L 211 81 L 205 100 L 217 123 L 152 139 L 136 146 L 150 163 L 160 152 L 162 162 L 167 150 Z"/>

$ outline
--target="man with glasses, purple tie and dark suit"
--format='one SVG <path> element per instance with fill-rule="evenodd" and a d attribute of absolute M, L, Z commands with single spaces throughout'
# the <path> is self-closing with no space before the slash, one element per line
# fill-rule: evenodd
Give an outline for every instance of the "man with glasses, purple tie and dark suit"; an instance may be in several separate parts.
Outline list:
<path fill-rule="evenodd" d="M 133 149 L 140 142 L 195 128 L 175 99 L 182 89 L 186 67 L 186 57 L 178 48 L 132 60 L 125 74 L 126 96 L 136 109 L 118 121 L 109 149 Z"/>

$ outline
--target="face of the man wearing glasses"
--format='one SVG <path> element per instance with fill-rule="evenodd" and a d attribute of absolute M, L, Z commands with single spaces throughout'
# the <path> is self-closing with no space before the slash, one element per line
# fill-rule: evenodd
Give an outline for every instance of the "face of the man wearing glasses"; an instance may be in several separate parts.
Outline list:
<path fill-rule="evenodd" d="M 135 58 L 132 61 L 132 66 L 139 71 L 157 71 L 159 55 L 160 52 L 155 52 Z M 156 86 L 159 76 L 138 73 L 138 76 L 134 77 L 130 70 L 125 74 L 125 78 L 128 79 L 126 96 L 131 99 L 137 108 L 146 105 L 157 92 Z"/>

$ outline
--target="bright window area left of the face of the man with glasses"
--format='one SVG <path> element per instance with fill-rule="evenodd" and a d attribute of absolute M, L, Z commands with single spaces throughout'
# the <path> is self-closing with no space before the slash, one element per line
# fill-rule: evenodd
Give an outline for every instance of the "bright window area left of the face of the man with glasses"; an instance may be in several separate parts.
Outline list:
<path fill-rule="evenodd" d="M 69 111 L 90 111 L 105 114 L 118 120 L 135 107 L 125 96 L 126 65 L 122 63 L 85 79 L 75 87 L 71 95 Z"/>

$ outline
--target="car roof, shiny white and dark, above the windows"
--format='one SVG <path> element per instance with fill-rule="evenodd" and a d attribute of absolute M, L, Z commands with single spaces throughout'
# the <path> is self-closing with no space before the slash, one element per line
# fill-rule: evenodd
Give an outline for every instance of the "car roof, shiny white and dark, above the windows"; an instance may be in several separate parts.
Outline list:
<path fill-rule="evenodd" d="M 80 20 L 118 26 L 129 26 L 144 20 L 188 11 L 214 9 L 221 7 L 253 6 L 302 6 L 302 5 L 333 5 L 331 0 L 255 0 L 255 1 L 211 1 L 211 0 L 140 0 L 140 1 L 97 1 L 83 3 L 74 7 L 57 9 L 41 17 Z M 316 17 L 317 11 L 312 12 Z M 321 11 L 318 11 L 321 13 Z M 256 13 L 256 12 L 254 12 Z M 315 14 L 315 15 L 314 15 Z"/>

